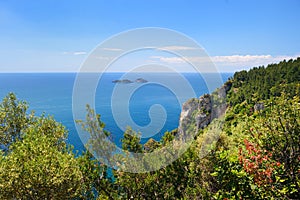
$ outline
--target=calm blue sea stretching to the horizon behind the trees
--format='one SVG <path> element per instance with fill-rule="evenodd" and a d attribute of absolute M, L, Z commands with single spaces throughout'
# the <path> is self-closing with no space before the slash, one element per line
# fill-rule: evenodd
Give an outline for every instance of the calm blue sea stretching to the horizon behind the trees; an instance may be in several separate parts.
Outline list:
<path fill-rule="evenodd" d="M 111 132 L 117 145 L 120 146 L 127 122 L 129 125 L 134 123 L 137 127 L 146 127 L 152 123 L 150 127 L 155 131 L 146 135 L 141 133 L 142 142 L 146 142 L 150 137 L 159 140 L 165 131 L 178 127 L 183 100 L 199 97 L 221 86 L 218 81 L 213 84 L 216 74 L 183 73 L 181 75 L 191 86 L 194 94 L 185 91 L 178 80 L 178 75 L 175 74 L 133 74 L 129 76 L 132 78 L 132 83 L 113 83 L 114 80 L 122 79 L 123 73 L 101 74 L 96 90 L 93 91 L 95 109 L 101 115 L 101 121 L 106 124 L 105 129 Z M 222 73 L 219 76 L 223 83 L 232 75 L 232 73 Z M 45 113 L 54 116 L 58 122 L 66 126 L 69 132 L 68 143 L 72 144 L 75 150 L 81 151 L 84 145 L 77 133 L 72 113 L 74 83 L 78 81 L 76 77 L 78 77 L 76 73 L 0 73 L 0 98 L 3 99 L 9 92 L 14 92 L 18 99 L 28 102 L 29 112 L 34 110 L 36 115 Z M 138 78 L 148 82 L 135 82 Z M 88 75 L 86 79 L 89 79 Z M 208 87 L 207 84 L 210 86 Z M 131 93 L 128 94 L 127 91 Z M 82 101 L 85 99 L 84 95 L 82 94 Z M 129 116 L 122 113 L 126 110 L 122 106 L 126 106 Z M 156 113 L 157 109 L 164 112 Z M 149 111 L 152 112 L 152 122 Z M 84 116 L 84 109 L 82 112 Z M 163 119 L 164 114 L 165 119 Z M 156 122 L 159 127 L 155 127 L 156 124 L 153 122 Z"/>

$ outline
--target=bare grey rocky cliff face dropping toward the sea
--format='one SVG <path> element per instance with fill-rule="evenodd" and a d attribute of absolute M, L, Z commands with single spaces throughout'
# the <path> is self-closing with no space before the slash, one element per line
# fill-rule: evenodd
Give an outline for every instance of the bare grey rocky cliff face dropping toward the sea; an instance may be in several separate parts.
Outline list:
<path fill-rule="evenodd" d="M 205 94 L 200 98 L 193 98 L 185 102 L 180 114 L 178 131 L 180 135 L 198 132 L 223 115 L 226 111 L 226 94 L 231 84 L 226 83 L 212 94 Z"/>

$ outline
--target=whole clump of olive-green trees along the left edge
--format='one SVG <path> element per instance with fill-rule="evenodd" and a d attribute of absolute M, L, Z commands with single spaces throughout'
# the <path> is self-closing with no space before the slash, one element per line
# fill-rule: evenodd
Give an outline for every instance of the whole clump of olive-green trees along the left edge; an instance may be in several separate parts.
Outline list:
<path fill-rule="evenodd" d="M 87 153 L 72 153 L 62 124 L 27 108 L 13 93 L 0 103 L 0 199 L 94 197 L 100 165 Z"/>

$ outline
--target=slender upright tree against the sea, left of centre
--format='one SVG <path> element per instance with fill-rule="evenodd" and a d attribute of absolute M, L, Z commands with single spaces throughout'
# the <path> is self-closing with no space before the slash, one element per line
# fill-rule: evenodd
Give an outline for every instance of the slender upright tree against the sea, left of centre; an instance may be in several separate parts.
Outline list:
<path fill-rule="evenodd" d="M 85 182 L 84 198 L 117 199 L 120 196 L 120 188 L 114 181 L 117 174 L 108 167 L 115 165 L 115 145 L 110 140 L 111 134 L 104 129 L 101 116 L 89 105 L 86 111 L 85 120 L 76 121 L 90 136 L 86 144 L 88 151 L 79 158 Z"/>

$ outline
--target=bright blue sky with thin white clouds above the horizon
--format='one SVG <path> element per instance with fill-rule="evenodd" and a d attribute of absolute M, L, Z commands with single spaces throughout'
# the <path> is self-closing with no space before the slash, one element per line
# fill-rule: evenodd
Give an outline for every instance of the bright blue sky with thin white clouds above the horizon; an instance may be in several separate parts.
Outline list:
<path fill-rule="evenodd" d="M 0 0 L 0 72 L 76 72 L 101 42 L 143 27 L 192 38 L 221 72 L 249 69 L 300 56 L 299 9 L 299 0 Z M 184 64 L 156 53 L 123 62 Z"/>

